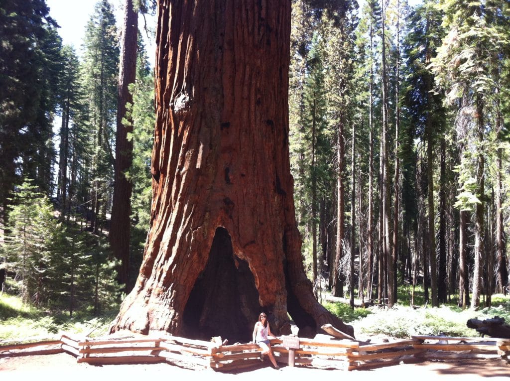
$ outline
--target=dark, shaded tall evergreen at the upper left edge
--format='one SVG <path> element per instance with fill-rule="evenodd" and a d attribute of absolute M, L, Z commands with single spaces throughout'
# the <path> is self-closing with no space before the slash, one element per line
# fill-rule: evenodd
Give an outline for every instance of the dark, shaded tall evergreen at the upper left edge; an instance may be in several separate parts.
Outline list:
<path fill-rule="evenodd" d="M 19 174 L 50 192 L 61 39 L 44 0 L 0 4 L 0 227 Z"/>

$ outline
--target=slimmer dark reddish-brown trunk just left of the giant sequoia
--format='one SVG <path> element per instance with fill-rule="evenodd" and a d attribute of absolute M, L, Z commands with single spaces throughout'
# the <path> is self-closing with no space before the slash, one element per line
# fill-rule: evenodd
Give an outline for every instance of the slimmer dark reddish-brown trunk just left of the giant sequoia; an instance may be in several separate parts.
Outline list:
<path fill-rule="evenodd" d="M 136 79 L 136 53 L 138 48 L 138 12 L 133 10 L 133 1 L 125 0 L 124 21 L 120 50 L 117 134 L 115 137 L 115 183 L 113 188 L 112 225 L 110 245 L 113 255 L 120 260 L 119 282 L 129 291 L 129 258 L 131 227 L 131 192 L 133 185 L 126 172 L 133 163 L 133 141 L 127 134 L 133 132 L 133 120 L 126 118 L 126 104 L 133 103 L 129 84 Z M 123 120 L 126 118 L 126 122 Z"/>

